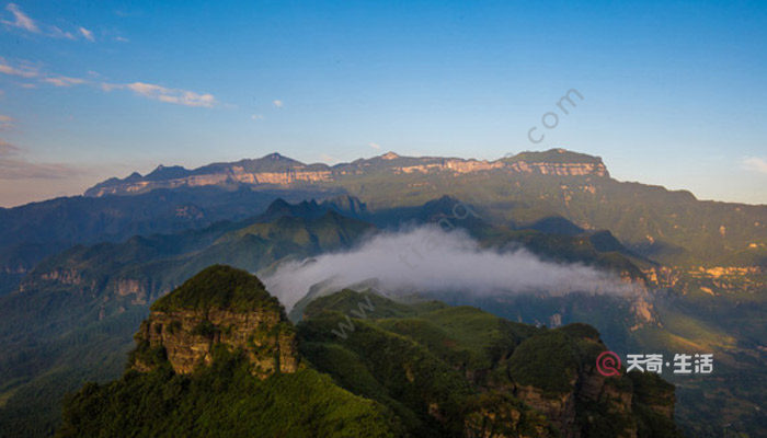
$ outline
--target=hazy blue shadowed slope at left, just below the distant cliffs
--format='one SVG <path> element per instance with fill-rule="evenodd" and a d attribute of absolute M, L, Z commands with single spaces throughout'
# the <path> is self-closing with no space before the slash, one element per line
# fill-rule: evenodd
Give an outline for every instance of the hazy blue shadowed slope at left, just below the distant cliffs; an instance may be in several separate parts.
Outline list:
<path fill-rule="evenodd" d="M 136 176 L 128 180 L 131 178 Z M 318 191 L 194 187 L 136 196 L 76 196 L 0 208 L 0 295 L 15 290 L 43 258 L 76 244 L 121 242 L 137 234 L 170 233 L 221 220 L 241 220 L 262 212 L 278 197 L 298 201 L 333 195 Z"/>

